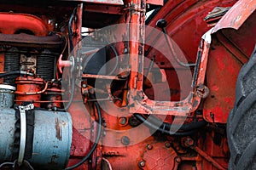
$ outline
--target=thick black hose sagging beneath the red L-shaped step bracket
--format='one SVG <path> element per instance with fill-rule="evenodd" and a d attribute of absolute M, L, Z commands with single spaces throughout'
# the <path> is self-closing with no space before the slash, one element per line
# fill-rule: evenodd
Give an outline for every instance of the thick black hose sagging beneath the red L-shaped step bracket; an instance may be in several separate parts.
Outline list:
<path fill-rule="evenodd" d="M 153 128 L 154 130 L 156 131 L 160 131 L 161 133 L 166 133 L 166 134 L 169 134 L 169 135 L 175 135 L 175 136 L 187 136 L 187 135 L 191 135 L 193 133 L 196 133 L 197 132 L 197 129 L 189 129 L 188 131 L 186 132 L 173 132 L 170 130 L 166 130 L 166 124 L 162 124 L 160 126 L 156 125 L 156 123 L 154 122 L 149 122 L 145 117 L 143 117 L 142 115 L 140 114 L 133 114 L 139 121 L 145 123 L 145 125 L 147 127 L 150 127 L 150 128 Z M 169 126 L 171 127 L 171 124 L 169 124 Z"/>

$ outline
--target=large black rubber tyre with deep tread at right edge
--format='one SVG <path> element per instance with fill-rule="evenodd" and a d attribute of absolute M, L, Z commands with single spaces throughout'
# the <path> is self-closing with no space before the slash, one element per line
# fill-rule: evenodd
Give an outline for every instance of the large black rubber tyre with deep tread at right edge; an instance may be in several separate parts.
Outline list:
<path fill-rule="evenodd" d="M 227 122 L 230 169 L 255 169 L 256 156 L 256 48 L 241 67 L 236 82 L 236 102 Z"/>

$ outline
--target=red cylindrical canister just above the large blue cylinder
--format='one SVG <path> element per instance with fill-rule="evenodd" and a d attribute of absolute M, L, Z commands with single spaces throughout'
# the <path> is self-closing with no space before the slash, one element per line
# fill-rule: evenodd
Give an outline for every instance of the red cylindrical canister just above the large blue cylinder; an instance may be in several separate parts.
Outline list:
<path fill-rule="evenodd" d="M 44 80 L 39 77 L 17 77 L 16 103 L 21 105 L 22 102 L 32 102 L 36 107 L 40 107 L 41 94 L 36 94 L 44 88 Z M 30 94 L 29 94 L 30 93 Z M 31 94 L 35 93 L 35 94 Z"/>

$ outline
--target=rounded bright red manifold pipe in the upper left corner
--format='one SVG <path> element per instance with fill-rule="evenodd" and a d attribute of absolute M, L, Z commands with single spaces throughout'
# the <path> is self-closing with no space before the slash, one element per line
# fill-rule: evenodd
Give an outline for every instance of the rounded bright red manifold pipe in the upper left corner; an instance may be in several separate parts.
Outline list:
<path fill-rule="evenodd" d="M 47 36 L 48 26 L 44 21 L 31 14 L 0 13 L 0 32 L 3 34 L 15 34 L 20 32 L 32 32 L 35 36 Z"/>

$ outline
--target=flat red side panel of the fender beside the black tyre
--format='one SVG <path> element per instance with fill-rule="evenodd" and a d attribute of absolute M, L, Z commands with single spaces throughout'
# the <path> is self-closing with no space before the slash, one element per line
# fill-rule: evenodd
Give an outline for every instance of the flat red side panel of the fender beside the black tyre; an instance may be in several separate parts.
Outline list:
<path fill-rule="evenodd" d="M 245 10 L 251 11 L 251 8 Z M 210 88 L 210 94 L 204 104 L 204 118 L 208 122 L 227 122 L 235 102 L 236 77 L 256 44 L 256 12 L 245 17 L 247 20 L 243 19 L 244 23 L 238 30 L 225 28 L 214 33 L 207 69 L 207 87 Z"/>

